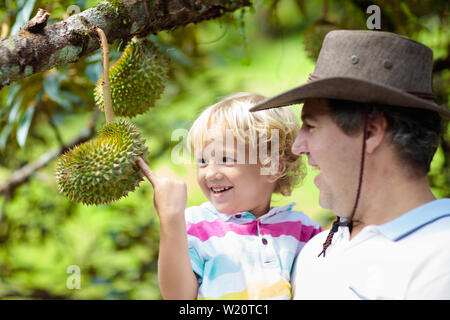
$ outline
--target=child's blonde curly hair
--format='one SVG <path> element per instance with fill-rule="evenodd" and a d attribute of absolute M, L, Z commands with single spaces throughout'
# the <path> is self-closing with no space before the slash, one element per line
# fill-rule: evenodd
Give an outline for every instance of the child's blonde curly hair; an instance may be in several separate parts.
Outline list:
<path fill-rule="evenodd" d="M 269 156 L 259 159 L 259 163 L 266 167 L 272 159 L 271 140 L 277 132 L 279 178 L 274 192 L 288 196 L 305 176 L 302 158 L 291 151 L 300 126 L 295 114 L 288 108 L 249 112 L 251 107 L 263 100 L 265 97 L 262 95 L 240 92 L 208 107 L 189 130 L 187 146 L 191 153 L 193 150 L 201 150 L 208 141 L 223 136 L 225 131 L 230 130 L 236 140 L 256 148 L 255 150 L 260 150 L 261 143 L 266 144 Z"/>

